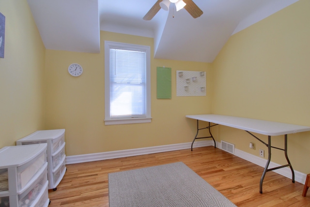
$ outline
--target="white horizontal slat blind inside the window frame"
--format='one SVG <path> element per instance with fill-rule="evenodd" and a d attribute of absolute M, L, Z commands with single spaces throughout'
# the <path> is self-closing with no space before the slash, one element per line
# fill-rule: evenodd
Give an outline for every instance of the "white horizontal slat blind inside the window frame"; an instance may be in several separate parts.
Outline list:
<path fill-rule="evenodd" d="M 110 116 L 146 117 L 146 53 L 110 48 Z"/>

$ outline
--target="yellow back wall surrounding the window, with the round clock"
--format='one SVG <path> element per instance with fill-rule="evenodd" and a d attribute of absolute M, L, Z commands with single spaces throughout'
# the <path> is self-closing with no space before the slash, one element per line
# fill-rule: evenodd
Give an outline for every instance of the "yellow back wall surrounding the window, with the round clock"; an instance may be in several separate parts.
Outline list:
<path fill-rule="evenodd" d="M 154 59 L 153 38 L 103 31 L 100 36 L 100 54 L 46 51 L 46 129 L 66 129 L 66 155 L 191 142 L 196 123 L 185 115 L 211 112 L 211 64 Z M 105 126 L 105 40 L 151 47 L 151 123 Z M 72 63 L 83 67 L 81 76 L 69 75 Z M 171 99 L 156 98 L 157 66 L 171 67 Z M 176 70 L 206 71 L 207 96 L 177 97 Z"/>

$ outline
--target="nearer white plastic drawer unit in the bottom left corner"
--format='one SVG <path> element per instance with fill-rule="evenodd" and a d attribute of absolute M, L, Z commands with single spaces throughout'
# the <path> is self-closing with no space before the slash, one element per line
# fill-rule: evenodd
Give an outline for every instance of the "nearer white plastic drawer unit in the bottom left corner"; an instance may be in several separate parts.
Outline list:
<path fill-rule="evenodd" d="M 47 144 L 0 149 L 0 206 L 47 207 Z"/>

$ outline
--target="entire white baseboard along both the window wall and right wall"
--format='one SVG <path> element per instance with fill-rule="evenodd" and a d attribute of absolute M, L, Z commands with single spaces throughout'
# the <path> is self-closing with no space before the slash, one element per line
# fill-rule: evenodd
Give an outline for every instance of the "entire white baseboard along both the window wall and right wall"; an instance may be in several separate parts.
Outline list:
<path fill-rule="evenodd" d="M 221 149 L 221 143 L 216 142 L 216 144 L 217 144 L 217 148 Z M 180 143 L 180 144 L 170 144 L 170 145 L 145 147 L 145 148 L 138 148 L 138 149 L 93 153 L 93 154 L 86 154 L 86 155 L 67 156 L 66 164 L 75 164 L 75 163 L 91 162 L 91 161 L 98 161 L 98 160 L 105 160 L 105 159 L 124 158 L 124 157 L 132 157 L 132 156 L 137 156 L 137 155 L 147 155 L 147 154 L 154 154 L 154 153 L 160 153 L 160 152 L 190 149 L 190 146 L 191 146 L 191 143 Z M 193 144 L 193 148 L 203 147 L 203 146 L 214 146 L 213 140 L 196 141 Z M 249 154 L 239 149 L 234 149 L 234 155 L 239 158 L 248 160 L 261 167 L 265 167 L 266 162 L 267 162 L 266 159 Z M 269 164 L 269 168 L 274 168 L 278 166 L 280 165 L 274 162 L 270 162 Z M 291 169 L 288 167 L 280 168 L 273 172 L 278 173 L 288 178 L 292 178 Z M 295 171 L 295 170 L 294 170 L 294 174 L 295 174 L 296 182 L 299 182 L 302 184 L 305 183 L 306 176 L 307 176 L 306 174 Z"/>

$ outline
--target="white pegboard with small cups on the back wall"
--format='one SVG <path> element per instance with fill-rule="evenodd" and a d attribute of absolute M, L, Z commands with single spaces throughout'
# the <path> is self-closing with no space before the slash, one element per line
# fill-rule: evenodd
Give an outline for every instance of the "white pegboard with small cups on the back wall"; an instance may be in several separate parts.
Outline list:
<path fill-rule="evenodd" d="M 205 71 L 176 71 L 176 96 L 206 96 Z"/>

